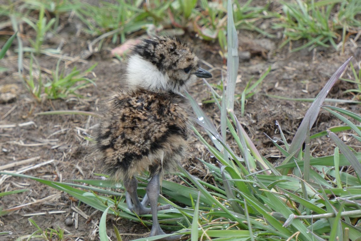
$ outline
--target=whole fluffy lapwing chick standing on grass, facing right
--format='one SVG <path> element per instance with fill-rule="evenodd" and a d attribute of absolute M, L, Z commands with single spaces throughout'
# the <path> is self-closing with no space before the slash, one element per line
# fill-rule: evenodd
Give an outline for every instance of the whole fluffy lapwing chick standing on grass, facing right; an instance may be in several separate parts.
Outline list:
<path fill-rule="evenodd" d="M 120 92 L 101 107 L 96 132 L 100 165 L 113 180 L 123 182 L 131 211 L 152 214 L 150 236 L 165 234 L 157 211 L 170 205 L 157 205 L 160 179 L 185 157 L 190 134 L 192 111 L 182 91 L 197 77 L 212 74 L 199 67 L 187 43 L 169 37 L 143 39 L 132 48 L 122 71 Z M 145 171 L 151 179 L 140 202 L 134 176 Z"/>

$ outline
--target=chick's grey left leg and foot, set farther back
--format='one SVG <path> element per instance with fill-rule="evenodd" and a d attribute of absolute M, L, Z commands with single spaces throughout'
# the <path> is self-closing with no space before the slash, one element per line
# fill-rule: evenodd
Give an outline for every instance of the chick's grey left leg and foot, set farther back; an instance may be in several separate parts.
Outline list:
<path fill-rule="evenodd" d="M 150 214 L 151 208 L 147 207 L 149 204 L 148 195 L 145 194 L 142 202 L 139 201 L 137 194 L 138 182 L 134 177 L 124 180 L 124 186 L 127 190 L 125 197 L 130 211 L 134 211 L 137 215 Z M 159 194 L 158 194 L 159 196 Z M 158 199 L 157 199 L 158 200 Z M 164 210 L 170 208 L 171 205 L 163 205 L 157 207 L 157 210 Z"/>

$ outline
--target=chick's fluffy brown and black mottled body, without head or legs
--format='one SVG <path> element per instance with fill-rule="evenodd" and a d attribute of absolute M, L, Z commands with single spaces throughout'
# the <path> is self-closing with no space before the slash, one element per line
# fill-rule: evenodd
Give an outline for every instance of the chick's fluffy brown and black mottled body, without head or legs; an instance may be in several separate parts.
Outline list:
<path fill-rule="evenodd" d="M 101 167 L 116 180 L 149 170 L 173 171 L 186 154 L 191 109 L 184 96 L 122 91 L 102 109 L 97 149 Z"/>

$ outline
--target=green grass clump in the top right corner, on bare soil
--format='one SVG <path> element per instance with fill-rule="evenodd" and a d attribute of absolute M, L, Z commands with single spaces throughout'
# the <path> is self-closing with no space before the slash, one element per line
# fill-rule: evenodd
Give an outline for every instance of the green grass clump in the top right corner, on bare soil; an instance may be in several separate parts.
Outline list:
<path fill-rule="evenodd" d="M 357 33 L 361 21 L 357 15 L 361 12 L 361 2 L 349 1 L 296 1 L 282 2 L 283 14 L 278 15 L 280 22 L 274 24 L 275 29 L 282 29 L 285 37 L 281 47 L 299 39 L 307 43 L 292 51 L 299 51 L 316 46 L 329 47 L 338 50 L 337 42 L 344 43 L 345 33 Z M 341 32 L 344 34 L 341 34 Z"/>

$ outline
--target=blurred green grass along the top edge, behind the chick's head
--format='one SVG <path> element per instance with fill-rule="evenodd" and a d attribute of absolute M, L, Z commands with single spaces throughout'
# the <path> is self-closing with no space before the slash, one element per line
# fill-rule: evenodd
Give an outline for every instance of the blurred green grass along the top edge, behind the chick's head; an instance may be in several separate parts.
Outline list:
<path fill-rule="evenodd" d="M 262 14 L 265 7 L 250 7 L 251 0 L 232 9 L 238 29 L 252 29 L 266 36 L 270 34 L 255 26 L 255 22 L 267 17 Z M 179 29 L 192 29 L 205 40 L 218 40 L 223 50 L 226 49 L 226 2 L 195 0 L 153 1 L 144 3 L 119 0 L 116 4 L 104 3 L 101 6 L 83 4 L 75 11 L 87 25 L 87 33 L 92 35 L 112 35 L 113 43 L 125 41 L 125 34 L 147 32 L 157 34 L 165 26 L 173 25 Z M 105 33 L 108 31 L 108 33 Z M 160 33 L 158 33 L 160 34 Z"/>

